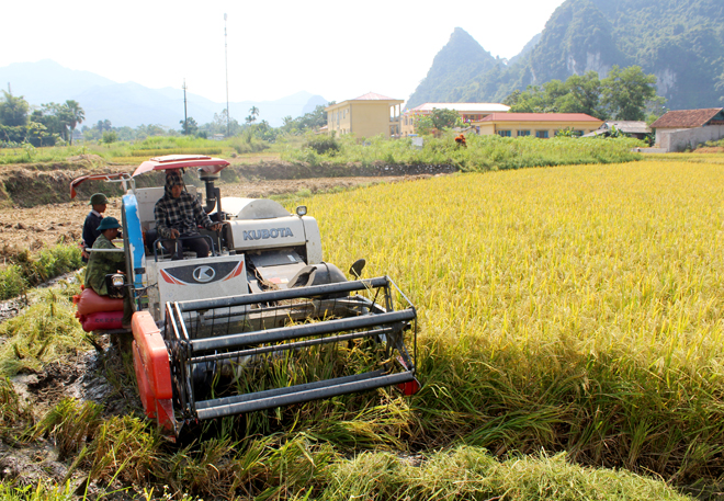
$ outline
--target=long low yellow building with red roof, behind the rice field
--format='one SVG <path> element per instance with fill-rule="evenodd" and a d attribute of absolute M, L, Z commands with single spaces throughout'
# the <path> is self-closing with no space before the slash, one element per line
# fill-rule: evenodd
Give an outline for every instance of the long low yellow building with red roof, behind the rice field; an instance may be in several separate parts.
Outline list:
<path fill-rule="evenodd" d="M 577 136 L 596 130 L 603 121 L 585 113 L 493 113 L 473 126 L 480 136 L 554 137 L 558 130 L 573 129 Z"/>

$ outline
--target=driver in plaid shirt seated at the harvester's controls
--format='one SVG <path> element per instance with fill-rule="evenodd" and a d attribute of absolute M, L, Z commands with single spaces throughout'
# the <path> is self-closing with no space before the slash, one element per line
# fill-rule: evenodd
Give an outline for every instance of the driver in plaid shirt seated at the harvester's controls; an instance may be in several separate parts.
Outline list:
<path fill-rule="evenodd" d="M 161 238 L 167 239 L 163 247 L 173 248 L 173 259 L 183 259 L 183 248 L 196 253 L 196 258 L 208 255 L 208 241 L 199 234 L 199 226 L 218 231 L 220 223 L 208 218 L 199 200 L 184 190 L 183 178 L 179 170 L 166 172 L 165 194 L 154 208 L 156 230 Z M 179 240 L 179 237 L 194 237 Z"/>

